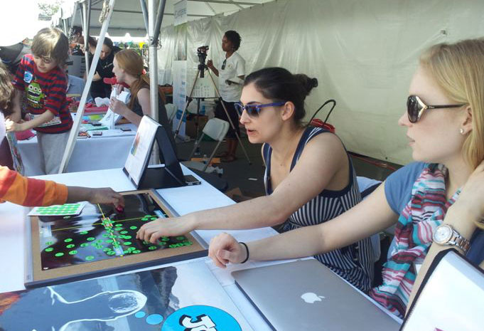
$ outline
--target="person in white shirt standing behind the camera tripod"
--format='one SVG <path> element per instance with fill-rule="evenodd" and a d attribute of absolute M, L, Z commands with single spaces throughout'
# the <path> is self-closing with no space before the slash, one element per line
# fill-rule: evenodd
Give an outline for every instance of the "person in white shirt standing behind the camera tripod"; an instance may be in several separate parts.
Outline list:
<path fill-rule="evenodd" d="M 222 97 L 227 112 L 230 116 L 230 120 L 235 126 L 235 130 L 232 125 L 227 132 L 227 152 L 220 155 L 222 162 L 232 162 L 236 159 L 235 152 L 237 151 L 237 135 L 240 135 L 237 110 L 235 110 L 235 103 L 240 101 L 240 93 L 242 93 L 242 80 L 245 76 L 245 60 L 237 53 L 237 49 L 240 47 L 239 33 L 236 31 L 225 32 L 222 38 L 222 51 L 225 52 L 225 58 L 220 61 L 218 68 L 215 68 L 213 61 L 207 61 L 207 66 L 210 70 L 218 76 L 218 88 L 220 96 Z M 222 103 L 217 103 L 215 107 L 215 117 L 222 120 L 227 119 L 227 114 L 222 106 Z"/>

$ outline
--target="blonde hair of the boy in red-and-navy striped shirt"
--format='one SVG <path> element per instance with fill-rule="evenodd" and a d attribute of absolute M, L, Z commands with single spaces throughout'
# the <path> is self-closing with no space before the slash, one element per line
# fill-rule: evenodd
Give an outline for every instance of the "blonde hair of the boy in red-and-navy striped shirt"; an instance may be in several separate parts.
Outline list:
<path fill-rule="evenodd" d="M 69 39 L 58 28 L 43 28 L 33 37 L 32 53 L 50 57 L 58 65 L 63 65 L 69 56 Z"/>

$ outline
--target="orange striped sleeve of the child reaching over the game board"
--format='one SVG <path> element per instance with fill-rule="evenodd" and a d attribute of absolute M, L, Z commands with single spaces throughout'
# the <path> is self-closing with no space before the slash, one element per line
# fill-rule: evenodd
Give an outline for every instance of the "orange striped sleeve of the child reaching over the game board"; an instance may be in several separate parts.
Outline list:
<path fill-rule="evenodd" d="M 65 204 L 68 188 L 63 184 L 21 176 L 0 167 L 0 199 L 22 206 Z"/>

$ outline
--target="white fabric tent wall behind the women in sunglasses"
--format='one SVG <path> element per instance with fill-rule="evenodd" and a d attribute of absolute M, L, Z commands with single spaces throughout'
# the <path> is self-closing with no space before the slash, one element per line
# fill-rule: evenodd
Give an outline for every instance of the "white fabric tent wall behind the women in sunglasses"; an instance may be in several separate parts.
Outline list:
<path fill-rule="evenodd" d="M 405 129 L 408 87 L 419 54 L 439 42 L 484 35 L 484 2 L 478 0 L 279 0 L 230 16 L 188 22 L 188 68 L 196 48 L 208 59 L 223 56 L 227 30 L 242 36 L 247 73 L 281 66 L 319 80 L 306 99 L 306 120 L 327 99 L 338 105 L 329 122 L 346 147 L 377 159 L 411 160 Z M 161 31 L 158 68 L 171 69 L 173 26 Z M 191 82 L 188 82 L 190 84 Z M 324 119 L 328 110 L 321 110 Z"/>

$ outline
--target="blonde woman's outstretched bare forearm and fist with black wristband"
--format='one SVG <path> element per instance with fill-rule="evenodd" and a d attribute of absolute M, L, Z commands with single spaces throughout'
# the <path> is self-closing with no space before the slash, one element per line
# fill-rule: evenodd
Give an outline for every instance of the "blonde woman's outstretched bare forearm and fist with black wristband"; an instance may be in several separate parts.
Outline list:
<path fill-rule="evenodd" d="M 384 194 L 383 183 L 367 199 L 335 219 L 247 243 L 249 258 L 267 261 L 326 253 L 382 231 L 396 220 L 397 215 Z M 208 256 L 222 268 L 229 262 L 240 263 L 247 257 L 245 248 L 227 233 L 213 238 Z"/>

